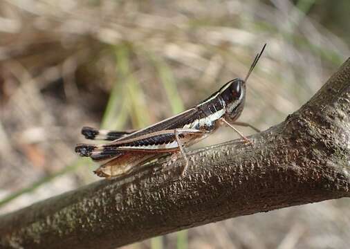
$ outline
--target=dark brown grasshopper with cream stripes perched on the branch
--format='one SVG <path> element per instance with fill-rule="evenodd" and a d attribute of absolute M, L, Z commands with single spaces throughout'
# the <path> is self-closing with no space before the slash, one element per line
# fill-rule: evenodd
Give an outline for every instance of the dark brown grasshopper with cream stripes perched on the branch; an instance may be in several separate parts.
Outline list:
<path fill-rule="evenodd" d="M 102 162 L 95 174 L 105 178 L 127 174 L 136 165 L 145 163 L 151 158 L 158 158 L 167 153 L 181 154 L 185 161 L 181 175 L 186 172 L 188 160 L 184 147 L 188 147 L 206 138 L 222 125 L 228 125 L 243 138 L 248 138 L 233 125 L 251 127 L 252 125 L 237 122 L 243 111 L 246 100 L 246 82 L 257 65 L 266 44 L 250 66 L 244 80 L 230 80 L 210 97 L 195 107 L 183 111 L 140 130 L 108 131 L 83 127 L 82 134 L 91 140 L 109 140 L 103 145 L 78 144 L 75 152 L 80 156 L 89 156 L 94 161 Z"/>

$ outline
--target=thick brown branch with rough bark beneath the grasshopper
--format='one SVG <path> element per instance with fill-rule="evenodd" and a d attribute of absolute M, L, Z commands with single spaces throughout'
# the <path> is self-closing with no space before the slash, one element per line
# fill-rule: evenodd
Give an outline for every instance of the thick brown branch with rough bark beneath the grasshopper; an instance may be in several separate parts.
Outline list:
<path fill-rule="evenodd" d="M 0 217 L 0 245 L 115 248 L 246 214 L 349 197 L 350 59 L 275 127 Z"/>

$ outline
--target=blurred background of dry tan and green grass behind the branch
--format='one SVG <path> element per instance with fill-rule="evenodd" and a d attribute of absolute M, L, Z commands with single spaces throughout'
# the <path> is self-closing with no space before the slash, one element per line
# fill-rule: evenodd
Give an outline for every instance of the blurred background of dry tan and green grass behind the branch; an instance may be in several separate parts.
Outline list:
<path fill-rule="evenodd" d="M 99 179 L 74 153 L 82 126 L 137 129 L 190 108 L 245 77 L 264 43 L 240 121 L 282 122 L 349 57 L 349 12 L 347 0 L 1 0 L 0 213 Z M 196 147 L 234 138 L 221 129 Z M 349 207 L 302 205 L 125 248 L 349 248 Z"/>

